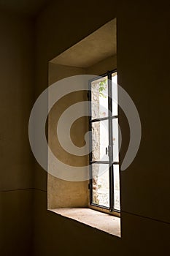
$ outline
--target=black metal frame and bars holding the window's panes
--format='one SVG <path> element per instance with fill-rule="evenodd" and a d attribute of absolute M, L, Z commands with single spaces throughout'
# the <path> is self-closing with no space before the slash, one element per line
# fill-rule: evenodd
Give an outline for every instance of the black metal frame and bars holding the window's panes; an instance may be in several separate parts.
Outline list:
<path fill-rule="evenodd" d="M 116 116 L 112 116 L 112 74 L 117 72 L 117 69 L 113 69 L 111 71 L 107 71 L 103 75 L 96 76 L 96 78 L 93 78 L 92 80 L 89 80 L 89 91 L 88 91 L 88 101 L 89 101 L 89 118 L 88 118 L 88 124 L 89 124 L 89 131 L 90 133 L 92 132 L 92 124 L 96 121 L 104 121 L 108 120 L 109 122 L 109 146 L 111 150 L 109 151 L 109 161 L 93 161 L 92 160 L 92 136 L 90 135 L 89 138 L 89 149 L 90 149 L 90 154 L 89 154 L 89 164 L 90 164 L 90 180 L 89 180 L 89 185 L 88 188 L 90 190 L 90 206 L 96 206 L 99 208 L 104 208 L 109 210 L 110 212 L 115 211 L 117 213 L 120 213 L 120 210 L 117 210 L 114 208 L 114 165 L 119 165 L 119 162 L 114 162 L 113 161 L 113 143 L 112 143 L 112 120 L 114 118 L 117 118 L 118 120 L 118 113 Z M 109 110 L 109 115 L 104 118 L 95 118 L 92 119 L 92 106 L 91 106 L 91 83 L 95 80 L 98 80 L 102 77 L 106 77 L 108 79 L 108 110 Z M 96 203 L 93 203 L 93 179 L 92 179 L 92 165 L 93 164 L 109 164 L 109 207 L 107 206 L 101 206 Z"/>

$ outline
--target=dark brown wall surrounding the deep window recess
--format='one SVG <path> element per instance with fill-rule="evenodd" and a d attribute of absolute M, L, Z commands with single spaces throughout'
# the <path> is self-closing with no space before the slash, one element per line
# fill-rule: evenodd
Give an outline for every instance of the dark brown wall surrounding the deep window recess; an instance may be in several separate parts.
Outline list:
<path fill-rule="evenodd" d="M 122 238 L 47 211 L 47 173 L 36 165 L 34 255 L 162 255 L 169 251 L 169 7 L 152 1 L 60 1 L 36 20 L 36 97 L 48 61 L 117 18 L 119 83 L 134 100 L 142 142 L 121 172 Z M 121 159 L 129 131 L 123 133 Z M 40 191 L 41 189 L 41 191 Z"/>

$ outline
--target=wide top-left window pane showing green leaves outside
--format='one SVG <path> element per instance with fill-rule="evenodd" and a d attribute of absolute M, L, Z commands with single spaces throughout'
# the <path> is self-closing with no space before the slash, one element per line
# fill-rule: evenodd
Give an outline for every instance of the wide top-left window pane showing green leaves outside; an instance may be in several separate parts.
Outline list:
<path fill-rule="evenodd" d="M 104 77 L 91 83 L 91 118 L 106 116 L 108 116 L 108 86 L 107 77 Z"/>

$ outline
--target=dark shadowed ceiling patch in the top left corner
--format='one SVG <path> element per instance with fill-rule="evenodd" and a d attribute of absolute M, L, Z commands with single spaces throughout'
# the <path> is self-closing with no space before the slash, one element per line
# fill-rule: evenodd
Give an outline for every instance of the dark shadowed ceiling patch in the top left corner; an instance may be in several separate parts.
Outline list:
<path fill-rule="evenodd" d="M 0 10 L 17 12 L 21 15 L 35 16 L 43 10 L 51 0 L 0 0 Z"/>

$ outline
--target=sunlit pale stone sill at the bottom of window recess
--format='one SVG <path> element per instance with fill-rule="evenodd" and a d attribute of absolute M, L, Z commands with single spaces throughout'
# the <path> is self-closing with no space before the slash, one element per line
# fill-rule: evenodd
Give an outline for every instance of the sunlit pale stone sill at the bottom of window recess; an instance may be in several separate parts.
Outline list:
<path fill-rule="evenodd" d="M 120 217 L 104 214 L 90 208 L 56 208 L 50 209 L 50 211 L 102 230 L 110 235 L 121 237 Z"/>

